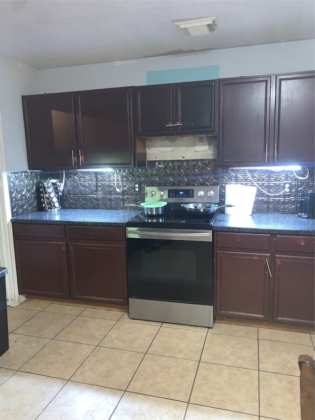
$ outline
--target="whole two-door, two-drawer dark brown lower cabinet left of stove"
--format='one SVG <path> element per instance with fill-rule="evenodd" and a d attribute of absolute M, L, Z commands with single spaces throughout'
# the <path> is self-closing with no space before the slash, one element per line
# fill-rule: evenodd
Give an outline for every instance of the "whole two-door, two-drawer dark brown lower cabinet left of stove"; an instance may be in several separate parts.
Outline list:
<path fill-rule="evenodd" d="M 124 227 L 13 224 L 19 292 L 127 304 Z"/>

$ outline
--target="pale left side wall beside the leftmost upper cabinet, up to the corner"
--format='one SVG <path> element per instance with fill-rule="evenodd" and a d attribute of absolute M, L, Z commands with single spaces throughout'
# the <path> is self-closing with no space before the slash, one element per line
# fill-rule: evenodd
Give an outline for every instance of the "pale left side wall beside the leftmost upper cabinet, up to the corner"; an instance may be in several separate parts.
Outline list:
<path fill-rule="evenodd" d="M 0 56 L 0 111 L 8 171 L 27 169 L 21 96 L 36 90 L 38 71 Z"/>

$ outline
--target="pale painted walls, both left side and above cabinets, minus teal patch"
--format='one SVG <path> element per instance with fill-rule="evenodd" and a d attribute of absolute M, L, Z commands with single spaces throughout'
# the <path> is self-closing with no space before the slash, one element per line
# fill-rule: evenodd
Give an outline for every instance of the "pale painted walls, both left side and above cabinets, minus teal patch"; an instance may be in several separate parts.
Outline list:
<path fill-rule="evenodd" d="M 220 77 L 315 69 L 315 41 L 294 41 L 126 62 L 36 70 L 0 57 L 0 109 L 8 171 L 27 170 L 21 95 L 145 85 L 146 72 L 208 65 Z"/>

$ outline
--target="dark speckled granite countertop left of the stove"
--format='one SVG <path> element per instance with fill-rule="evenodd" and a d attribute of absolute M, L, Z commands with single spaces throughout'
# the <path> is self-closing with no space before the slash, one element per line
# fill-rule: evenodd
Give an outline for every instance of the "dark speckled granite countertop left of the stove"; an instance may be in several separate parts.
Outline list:
<path fill-rule="evenodd" d="M 60 209 L 57 212 L 38 211 L 12 217 L 12 223 L 75 226 L 126 226 L 141 210 Z"/>

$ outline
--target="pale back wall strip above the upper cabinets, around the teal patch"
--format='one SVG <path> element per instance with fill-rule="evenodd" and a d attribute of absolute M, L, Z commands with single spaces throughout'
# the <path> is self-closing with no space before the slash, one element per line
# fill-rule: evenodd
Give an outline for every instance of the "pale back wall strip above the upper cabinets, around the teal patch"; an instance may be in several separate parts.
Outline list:
<path fill-rule="evenodd" d="M 219 77 L 290 73 L 315 69 L 315 41 L 227 48 L 203 53 L 40 70 L 36 92 L 53 93 L 146 85 L 146 72 L 219 65 Z"/>

